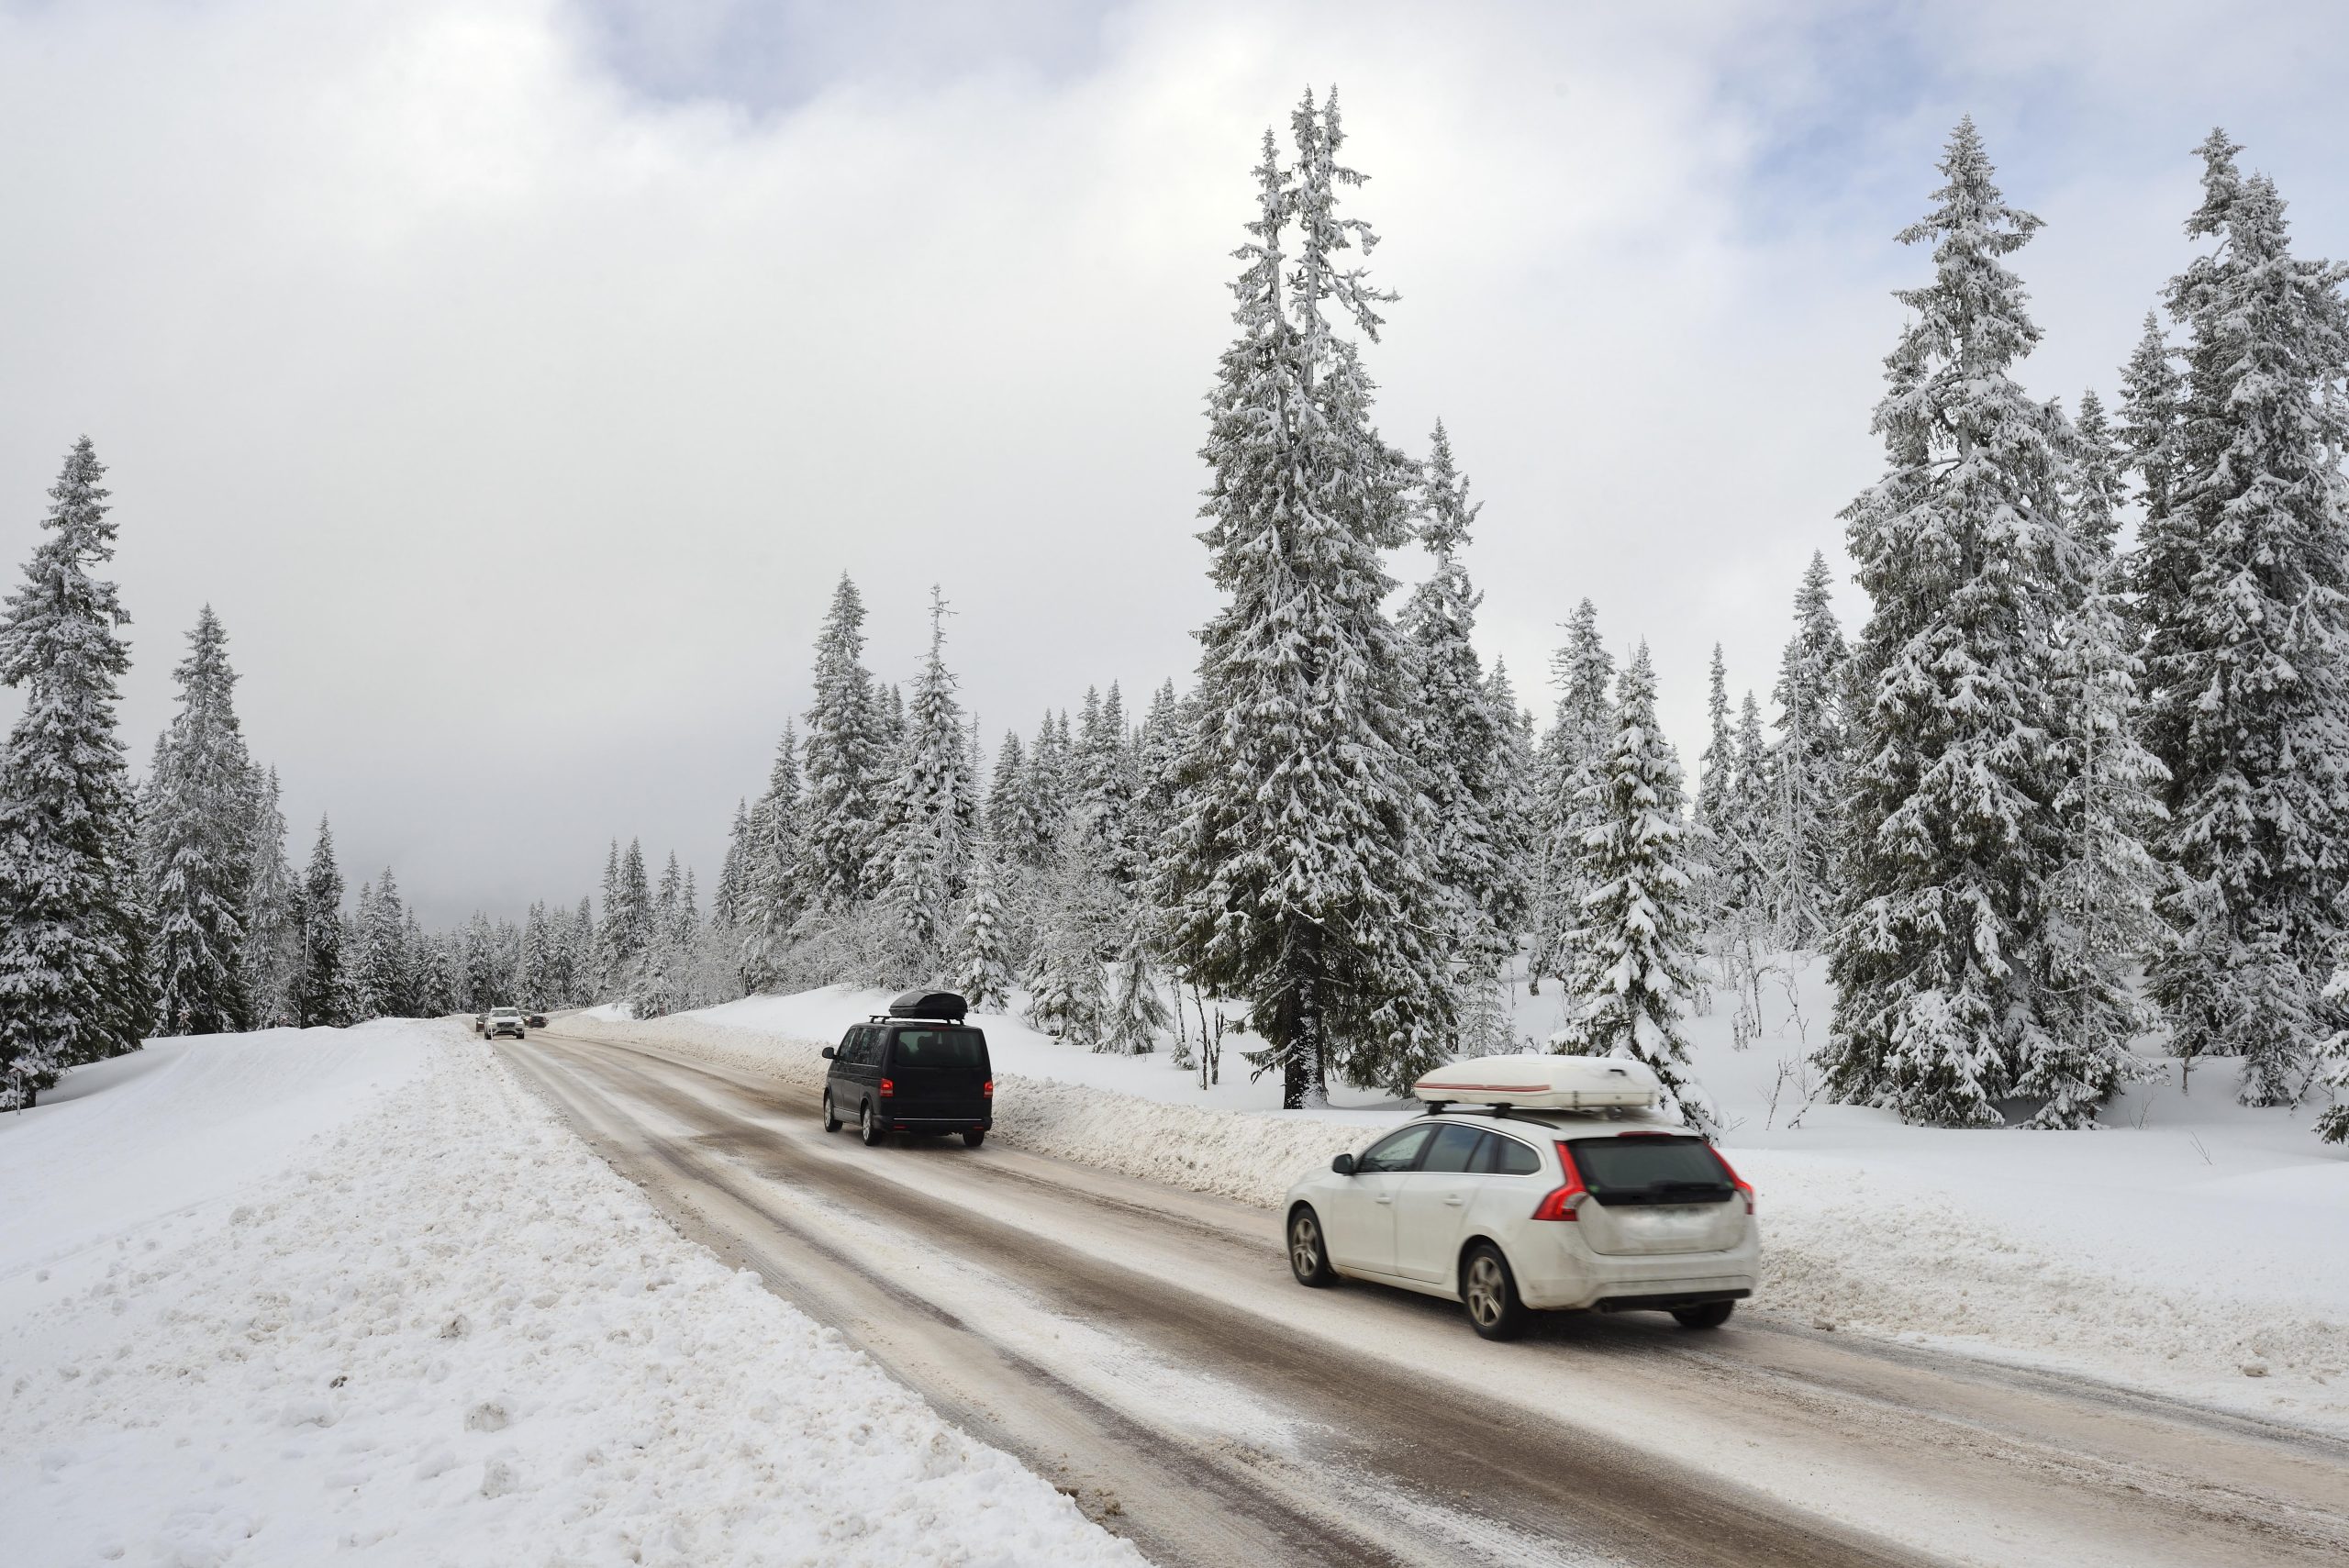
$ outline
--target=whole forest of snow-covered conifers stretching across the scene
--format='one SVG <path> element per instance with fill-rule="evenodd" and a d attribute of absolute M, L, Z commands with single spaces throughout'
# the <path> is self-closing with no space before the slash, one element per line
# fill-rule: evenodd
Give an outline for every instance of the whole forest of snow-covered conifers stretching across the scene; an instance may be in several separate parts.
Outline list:
<path fill-rule="evenodd" d="M 0 758 L 0 1106 L 155 1030 L 625 998 L 637 1016 L 822 984 L 951 984 L 1207 1082 L 1226 1026 L 1283 1101 L 1402 1089 L 1461 1052 L 1651 1063 L 1698 1127 L 1687 1019 L 1743 1045 L 1762 976 L 1823 953 L 1828 1091 L 1940 1127 L 2088 1127 L 2163 1052 L 2349 1136 L 2349 270 L 2290 249 L 2274 183 L 2201 148 L 2185 265 L 2114 394 L 2034 397 L 2013 270 L 2039 228 L 1971 122 L 1884 359 L 1884 472 L 1842 514 L 1865 592 L 1792 587 L 1766 699 L 1712 648 L 1694 786 L 1647 646 L 1560 606 L 1546 723 L 1475 648 L 1480 505 L 1438 425 L 1374 423 L 1337 96 L 1264 136 L 1200 533 L 1221 608 L 1189 690 L 1109 683 L 991 756 L 933 589 L 904 685 L 843 575 L 813 697 L 735 812 L 707 913 L 608 847 L 601 908 L 428 934 L 392 873 L 345 908 L 327 824 L 284 854 L 207 610 L 134 789 L 101 469 L 80 444 L 0 624 L 28 707 Z M 1423 582 L 1391 554 L 1419 545 Z"/>

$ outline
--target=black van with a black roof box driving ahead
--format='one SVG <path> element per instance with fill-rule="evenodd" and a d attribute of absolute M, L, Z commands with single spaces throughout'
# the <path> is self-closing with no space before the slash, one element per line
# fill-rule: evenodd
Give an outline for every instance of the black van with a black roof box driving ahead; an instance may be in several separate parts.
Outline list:
<path fill-rule="evenodd" d="M 867 1145 L 893 1131 L 958 1131 L 977 1148 L 996 1113 L 987 1035 L 968 1028 L 963 998 L 907 991 L 888 1014 L 824 1047 L 824 1131 L 855 1117 Z"/>

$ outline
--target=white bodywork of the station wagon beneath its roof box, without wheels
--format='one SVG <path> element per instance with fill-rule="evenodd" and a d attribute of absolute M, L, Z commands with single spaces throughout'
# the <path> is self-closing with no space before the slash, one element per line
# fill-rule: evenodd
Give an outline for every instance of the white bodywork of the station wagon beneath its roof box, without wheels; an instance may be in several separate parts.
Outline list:
<path fill-rule="evenodd" d="M 1463 1131 L 1440 1134 L 1445 1127 Z M 1506 1141 L 1494 1155 L 1482 1143 L 1468 1155 L 1489 1169 L 1419 1169 L 1438 1148 L 1447 1153 L 1438 1164 L 1456 1164 L 1470 1131 Z M 1409 1150 L 1409 1169 L 1374 1169 L 1395 1164 L 1395 1141 L 1412 1136 L 1421 1145 Z M 1609 1150 L 1628 1138 L 1656 1143 L 1628 1160 Z M 1670 1202 L 1654 1188 L 1583 1181 L 1581 1169 L 1567 1169 L 1562 1143 L 1593 1145 L 1579 1167 L 1665 1162 L 1694 1174 L 1698 1160 L 1712 1160 L 1727 1192 Z M 1665 1145 L 1682 1153 L 1665 1155 Z M 1741 1300 L 1757 1284 L 1762 1235 L 1752 1188 L 1710 1145 L 1656 1113 L 1435 1110 L 1381 1134 L 1351 1160 L 1362 1169 L 1315 1171 L 1290 1188 L 1283 1216 L 1292 1265 L 1294 1221 L 1311 1209 L 1334 1272 L 1447 1300 L 1466 1300 L 1468 1261 L 1485 1242 L 1501 1249 L 1517 1298 L 1532 1310 L 1691 1310 Z M 1604 1202 L 1609 1192 L 1614 1202 Z M 1536 1218 L 1543 1211 L 1550 1218 Z"/>

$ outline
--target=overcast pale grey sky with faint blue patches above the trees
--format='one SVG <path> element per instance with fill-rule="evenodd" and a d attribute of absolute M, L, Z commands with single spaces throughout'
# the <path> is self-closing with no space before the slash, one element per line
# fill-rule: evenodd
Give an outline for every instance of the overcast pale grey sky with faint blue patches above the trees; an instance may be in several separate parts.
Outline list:
<path fill-rule="evenodd" d="M 1341 87 L 1482 641 L 1590 596 L 1694 763 L 1877 474 L 1891 235 L 1973 113 L 2041 394 L 2112 390 L 2213 122 L 2349 254 L 2340 5 L 0 0 L 0 570 L 110 465 L 143 765 L 211 601 L 294 857 L 430 922 L 716 866 L 846 570 L 987 725 L 1189 681 L 1259 131 Z M 1398 561 L 1409 577 L 1416 563 Z M 1846 587 L 1846 624 L 1863 606 Z M 0 697 L 0 716 L 14 711 Z"/>

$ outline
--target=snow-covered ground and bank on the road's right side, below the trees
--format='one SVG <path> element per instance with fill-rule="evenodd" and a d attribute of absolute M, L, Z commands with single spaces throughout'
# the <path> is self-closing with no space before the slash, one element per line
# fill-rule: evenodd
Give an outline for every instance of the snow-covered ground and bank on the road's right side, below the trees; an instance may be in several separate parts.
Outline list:
<path fill-rule="evenodd" d="M 817 1047 L 886 1005 L 827 988 L 585 1026 L 815 1084 Z M 1745 1049 L 1727 998 L 1691 1021 L 1722 1148 L 1762 1192 L 1752 1310 L 2349 1432 L 2349 1153 L 2316 1141 L 2307 1106 L 2243 1110 L 2234 1063 L 2203 1061 L 2185 1091 L 2168 1063 L 2095 1131 L 1903 1127 L 1816 1099 L 1804 1056 L 1830 1005 L 1813 965 L 1773 984 Z M 1520 998 L 1520 1030 L 1546 1035 L 1555 1007 Z M 1409 1115 L 1374 1094 L 1280 1113 L 1278 1084 L 1247 1080 L 1247 1038 L 1226 1040 L 1224 1082 L 1200 1091 L 1165 1052 L 1104 1056 L 1017 1016 L 975 1021 L 1001 1141 L 1261 1207 Z"/>

